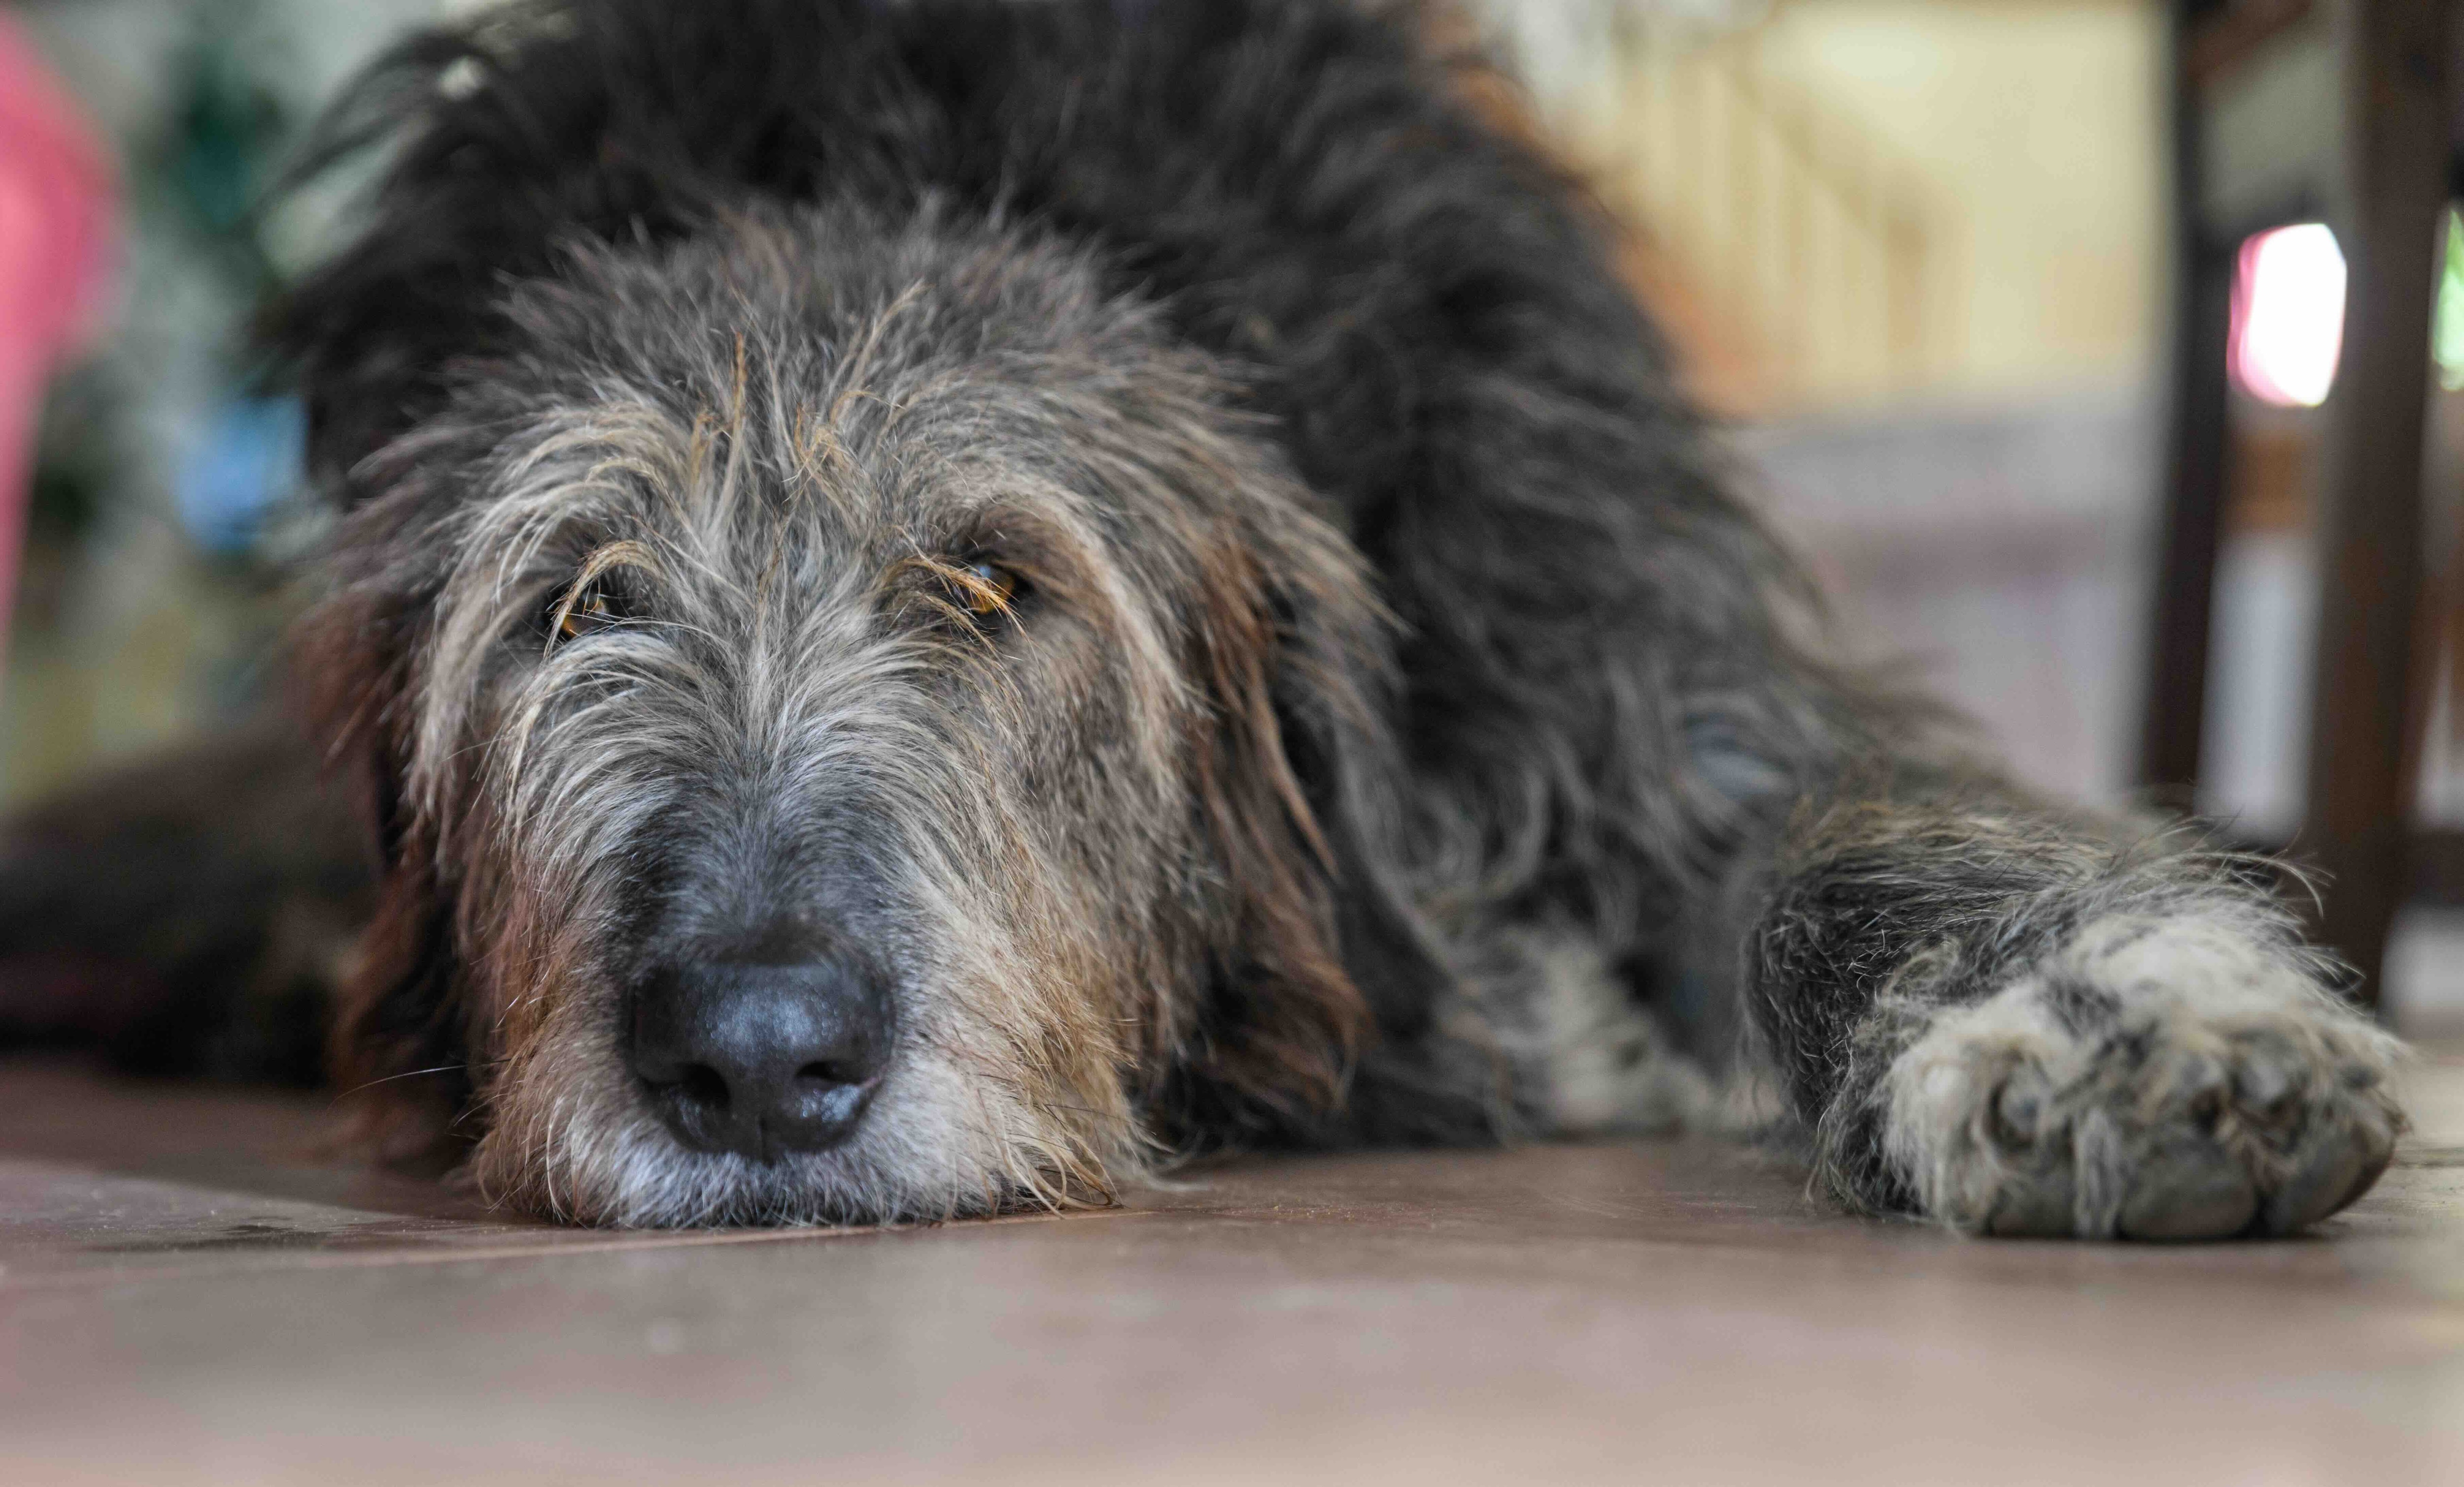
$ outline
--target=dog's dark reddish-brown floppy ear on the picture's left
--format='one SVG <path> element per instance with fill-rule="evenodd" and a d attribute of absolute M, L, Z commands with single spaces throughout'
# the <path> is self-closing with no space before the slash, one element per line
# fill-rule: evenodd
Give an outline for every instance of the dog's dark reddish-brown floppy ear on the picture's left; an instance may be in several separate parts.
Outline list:
<path fill-rule="evenodd" d="M 340 593 L 296 633 L 293 665 L 325 763 L 357 810 L 377 864 L 377 913 L 342 980 L 328 1061 L 355 1140 L 389 1162 L 446 1160 L 471 1103 L 456 997 L 453 916 L 436 842 L 402 798 L 404 623 Z"/>

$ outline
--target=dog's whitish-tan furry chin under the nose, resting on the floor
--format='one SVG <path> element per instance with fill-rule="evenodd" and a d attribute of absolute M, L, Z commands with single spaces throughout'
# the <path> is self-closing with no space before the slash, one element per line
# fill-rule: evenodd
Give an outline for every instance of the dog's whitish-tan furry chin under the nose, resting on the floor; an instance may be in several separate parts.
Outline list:
<path fill-rule="evenodd" d="M 545 1076 L 542 1076 L 545 1073 Z M 860 1226 L 1104 1204 L 1119 1160 L 929 1061 L 892 1068 L 865 1123 L 821 1152 L 752 1160 L 683 1145 L 604 1064 L 532 1071 L 471 1157 L 495 1204 L 611 1228 Z"/>

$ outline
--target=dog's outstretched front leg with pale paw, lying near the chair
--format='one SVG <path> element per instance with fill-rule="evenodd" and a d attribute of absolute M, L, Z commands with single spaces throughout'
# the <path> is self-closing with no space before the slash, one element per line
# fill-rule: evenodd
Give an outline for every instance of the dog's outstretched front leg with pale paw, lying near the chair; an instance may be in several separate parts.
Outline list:
<path fill-rule="evenodd" d="M 2082 1238 L 2289 1233 L 2358 1199 L 2395 1039 L 2237 864 L 2008 798 L 1809 810 L 1747 1000 L 1858 1209 Z"/>

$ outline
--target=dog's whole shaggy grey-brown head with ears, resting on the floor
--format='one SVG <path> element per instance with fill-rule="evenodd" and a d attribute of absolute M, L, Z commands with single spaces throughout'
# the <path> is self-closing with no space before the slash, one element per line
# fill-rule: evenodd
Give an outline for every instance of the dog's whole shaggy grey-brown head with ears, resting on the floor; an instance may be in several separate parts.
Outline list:
<path fill-rule="evenodd" d="M 616 1224 L 1084 1199 L 1175 1100 L 1335 1096 L 1385 645 L 1210 362 L 931 212 L 574 249 L 495 325 L 306 630 L 387 859 L 345 1078 Z"/>

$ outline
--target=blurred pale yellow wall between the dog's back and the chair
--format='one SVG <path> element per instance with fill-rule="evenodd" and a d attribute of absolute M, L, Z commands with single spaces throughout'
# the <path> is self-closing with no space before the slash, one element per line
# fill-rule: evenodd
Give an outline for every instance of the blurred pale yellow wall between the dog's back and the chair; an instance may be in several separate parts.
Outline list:
<path fill-rule="evenodd" d="M 1530 2 L 1506 25 L 1542 30 Z M 1525 47 L 1538 101 L 1641 222 L 1666 318 L 1732 384 L 1715 401 L 2011 401 L 2149 374 L 2166 219 L 2154 2 L 1784 0 L 1737 30 L 1594 42 L 1560 32 L 1555 64 Z M 1611 44 L 1621 59 L 1602 62 Z M 1794 241 L 1781 229 L 1809 222 Z"/>

